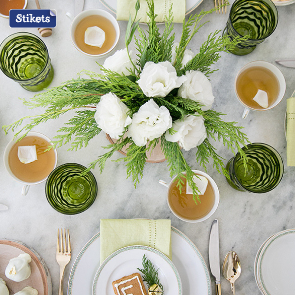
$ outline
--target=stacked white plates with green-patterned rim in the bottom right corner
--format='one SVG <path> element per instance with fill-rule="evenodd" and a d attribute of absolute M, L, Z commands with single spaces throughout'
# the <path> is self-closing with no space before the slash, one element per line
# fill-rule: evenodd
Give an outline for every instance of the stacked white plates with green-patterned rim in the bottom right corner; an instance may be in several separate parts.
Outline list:
<path fill-rule="evenodd" d="M 264 295 L 294 295 L 295 229 L 269 237 L 255 259 L 255 278 Z"/>

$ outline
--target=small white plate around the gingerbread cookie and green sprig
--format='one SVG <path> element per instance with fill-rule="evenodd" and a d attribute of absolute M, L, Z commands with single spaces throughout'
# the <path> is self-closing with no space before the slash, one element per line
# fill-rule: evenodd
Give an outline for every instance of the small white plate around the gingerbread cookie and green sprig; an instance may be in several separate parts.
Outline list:
<path fill-rule="evenodd" d="M 126 275 L 140 273 L 137 268 L 143 268 L 144 255 L 155 269 L 158 269 L 164 292 L 169 295 L 181 295 L 181 280 L 172 261 L 160 251 L 146 246 L 125 247 L 111 254 L 96 272 L 93 295 L 114 295 L 112 283 Z"/>

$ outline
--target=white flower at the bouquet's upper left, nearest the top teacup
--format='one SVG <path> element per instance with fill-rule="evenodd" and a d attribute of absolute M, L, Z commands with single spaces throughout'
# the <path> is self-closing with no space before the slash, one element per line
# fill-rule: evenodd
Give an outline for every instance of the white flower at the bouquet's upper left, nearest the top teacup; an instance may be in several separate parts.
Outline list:
<path fill-rule="evenodd" d="M 132 55 L 132 51 L 129 52 L 130 57 Z M 133 63 L 136 62 L 135 59 L 132 59 Z M 108 57 L 103 67 L 116 72 L 120 75 L 128 76 L 130 75 L 130 71 L 128 69 L 134 70 L 134 66 L 130 61 L 127 53 L 127 48 L 117 50 L 112 56 Z"/>

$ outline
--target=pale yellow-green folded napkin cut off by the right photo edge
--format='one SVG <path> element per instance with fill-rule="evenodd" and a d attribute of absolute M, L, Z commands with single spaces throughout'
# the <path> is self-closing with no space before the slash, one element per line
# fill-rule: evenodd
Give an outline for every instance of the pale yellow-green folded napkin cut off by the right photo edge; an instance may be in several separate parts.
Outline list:
<path fill-rule="evenodd" d="M 295 95 L 295 92 L 293 93 Z M 295 97 L 287 99 L 287 165 L 295 166 Z"/>

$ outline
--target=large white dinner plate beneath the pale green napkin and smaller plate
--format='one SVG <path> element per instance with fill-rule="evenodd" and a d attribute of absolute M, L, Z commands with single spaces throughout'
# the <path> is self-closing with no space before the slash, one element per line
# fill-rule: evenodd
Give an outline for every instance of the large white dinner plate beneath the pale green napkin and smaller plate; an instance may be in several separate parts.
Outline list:
<path fill-rule="evenodd" d="M 171 240 L 172 262 L 178 270 L 183 295 L 211 295 L 210 276 L 200 251 L 174 227 L 171 227 Z M 92 295 L 99 266 L 100 233 L 93 236 L 77 256 L 70 273 L 68 295 Z"/>

